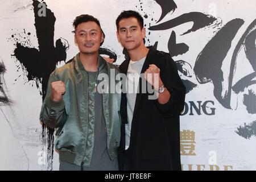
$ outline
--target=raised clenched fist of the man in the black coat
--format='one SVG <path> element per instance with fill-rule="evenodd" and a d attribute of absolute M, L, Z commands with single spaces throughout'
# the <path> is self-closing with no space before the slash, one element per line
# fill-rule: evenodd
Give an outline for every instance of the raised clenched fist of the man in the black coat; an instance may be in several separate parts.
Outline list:
<path fill-rule="evenodd" d="M 154 64 L 150 64 L 150 66 L 144 72 L 144 77 L 157 92 L 159 87 L 163 85 L 163 82 L 160 78 L 160 69 Z"/>

